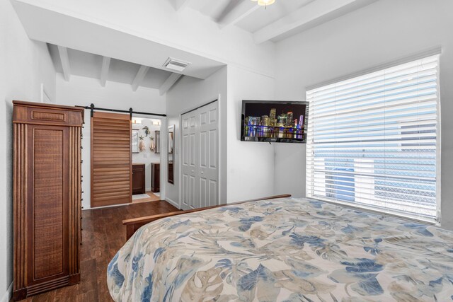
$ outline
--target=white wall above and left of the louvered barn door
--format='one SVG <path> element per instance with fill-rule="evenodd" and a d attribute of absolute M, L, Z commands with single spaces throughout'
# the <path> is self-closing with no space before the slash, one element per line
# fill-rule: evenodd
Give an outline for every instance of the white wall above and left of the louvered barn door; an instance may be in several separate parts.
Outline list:
<path fill-rule="evenodd" d="M 57 74 L 57 103 L 62 105 L 84 105 L 93 103 L 98 108 L 110 108 L 117 110 L 129 110 L 140 112 L 165 113 L 165 96 L 159 95 L 159 91 L 151 88 L 139 87 L 132 91 L 128 84 L 108 81 L 102 87 L 97 79 L 84 76 L 71 76 L 69 82 L 64 81 L 62 74 Z M 90 161 L 91 161 L 91 123 L 90 110 L 85 110 L 85 124 L 82 129 L 82 206 L 90 209 Z"/>

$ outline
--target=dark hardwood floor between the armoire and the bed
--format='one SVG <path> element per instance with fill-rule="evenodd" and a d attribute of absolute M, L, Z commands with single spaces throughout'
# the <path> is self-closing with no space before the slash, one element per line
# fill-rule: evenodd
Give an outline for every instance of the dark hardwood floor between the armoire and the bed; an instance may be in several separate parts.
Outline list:
<path fill-rule="evenodd" d="M 178 211 L 168 202 L 144 202 L 82 211 L 81 282 L 23 301 L 113 301 L 107 288 L 107 265 L 126 242 L 123 219 Z"/>

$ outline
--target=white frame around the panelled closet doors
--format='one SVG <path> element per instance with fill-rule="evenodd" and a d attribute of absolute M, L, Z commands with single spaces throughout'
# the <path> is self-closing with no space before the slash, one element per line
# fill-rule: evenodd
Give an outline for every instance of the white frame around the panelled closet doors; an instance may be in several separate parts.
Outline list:
<path fill-rule="evenodd" d="M 178 150 L 178 206 L 179 206 L 179 209 L 182 209 L 181 208 L 181 204 L 182 204 L 182 192 L 183 192 L 183 173 L 182 172 L 182 168 L 183 168 L 183 165 L 181 165 L 181 163 L 183 162 L 183 139 L 182 139 L 182 136 L 183 136 L 183 128 L 181 127 L 181 125 L 183 124 L 183 115 L 189 113 L 189 112 L 192 112 L 192 111 L 195 111 L 199 108 L 202 108 L 202 107 L 205 107 L 206 105 L 210 105 L 212 103 L 215 103 L 217 102 L 217 129 L 218 129 L 218 133 L 219 133 L 219 139 L 218 139 L 218 142 L 217 142 L 217 156 L 218 156 L 218 159 L 219 159 L 219 169 L 217 170 L 217 173 L 218 173 L 218 182 L 219 182 L 219 187 L 217 189 L 217 200 L 219 201 L 219 204 L 221 202 L 221 199 L 220 197 L 222 196 L 220 194 L 220 192 L 222 192 L 221 190 L 221 187 L 222 187 L 222 161 L 220 160 L 222 157 L 222 149 L 220 149 L 220 146 L 221 146 L 221 141 L 222 141 L 222 131 L 221 131 L 221 124 L 222 124 L 222 117 L 221 117 L 221 112 L 220 112 L 220 94 L 218 95 L 217 99 L 215 100 L 211 100 L 210 102 L 207 102 L 207 103 L 203 103 L 202 105 L 197 105 L 197 106 L 193 106 L 190 110 L 185 110 L 184 112 L 180 113 L 179 115 L 179 130 L 178 130 L 178 144 L 179 144 L 179 150 Z M 223 189 L 223 187 L 222 187 Z"/>

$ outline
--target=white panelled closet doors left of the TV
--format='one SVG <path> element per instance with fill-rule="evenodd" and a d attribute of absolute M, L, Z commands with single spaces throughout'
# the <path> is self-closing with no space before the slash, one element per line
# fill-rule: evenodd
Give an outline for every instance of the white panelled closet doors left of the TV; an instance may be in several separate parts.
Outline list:
<path fill-rule="evenodd" d="M 219 204 L 217 103 L 210 103 L 182 116 L 182 209 Z"/>

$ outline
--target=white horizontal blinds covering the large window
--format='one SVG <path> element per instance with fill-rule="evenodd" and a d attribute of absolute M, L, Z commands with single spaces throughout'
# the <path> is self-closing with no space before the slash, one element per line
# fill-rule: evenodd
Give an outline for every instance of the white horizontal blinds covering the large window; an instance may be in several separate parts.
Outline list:
<path fill-rule="evenodd" d="M 307 197 L 437 219 L 438 58 L 307 91 Z"/>

